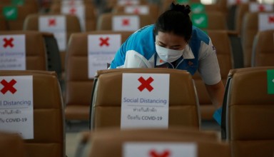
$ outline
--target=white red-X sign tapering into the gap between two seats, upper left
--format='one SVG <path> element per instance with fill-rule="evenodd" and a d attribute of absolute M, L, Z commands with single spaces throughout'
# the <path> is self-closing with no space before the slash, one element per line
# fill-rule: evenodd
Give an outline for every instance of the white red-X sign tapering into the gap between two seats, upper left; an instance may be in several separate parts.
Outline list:
<path fill-rule="evenodd" d="M 66 16 L 40 16 L 39 31 L 53 33 L 56 37 L 59 50 L 66 50 Z"/>

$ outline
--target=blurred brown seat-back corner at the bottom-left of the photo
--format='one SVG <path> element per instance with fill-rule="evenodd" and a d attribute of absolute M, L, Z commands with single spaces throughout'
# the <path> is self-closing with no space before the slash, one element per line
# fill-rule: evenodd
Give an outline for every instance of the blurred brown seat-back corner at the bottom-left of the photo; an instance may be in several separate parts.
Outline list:
<path fill-rule="evenodd" d="M 0 131 L 0 152 L 5 157 L 26 157 L 26 148 L 21 136 Z"/>

